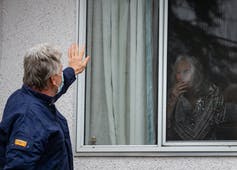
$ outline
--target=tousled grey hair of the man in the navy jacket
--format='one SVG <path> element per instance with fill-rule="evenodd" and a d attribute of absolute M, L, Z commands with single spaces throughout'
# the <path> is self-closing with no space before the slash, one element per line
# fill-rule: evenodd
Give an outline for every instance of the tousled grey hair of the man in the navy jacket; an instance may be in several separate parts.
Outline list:
<path fill-rule="evenodd" d="M 43 90 L 52 75 L 58 74 L 61 68 L 62 53 L 50 44 L 38 44 L 24 56 L 23 83 L 29 87 Z"/>

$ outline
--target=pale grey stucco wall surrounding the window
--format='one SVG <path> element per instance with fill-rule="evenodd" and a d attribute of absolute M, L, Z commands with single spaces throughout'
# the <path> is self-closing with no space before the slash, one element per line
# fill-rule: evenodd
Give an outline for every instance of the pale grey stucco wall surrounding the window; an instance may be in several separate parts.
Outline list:
<path fill-rule="evenodd" d="M 22 85 L 23 56 L 31 46 L 49 42 L 67 48 L 77 40 L 76 0 L 0 0 L 0 117 L 8 96 Z M 58 102 L 75 145 L 76 83 Z M 235 157 L 75 157 L 75 170 L 158 169 L 237 170 Z"/>

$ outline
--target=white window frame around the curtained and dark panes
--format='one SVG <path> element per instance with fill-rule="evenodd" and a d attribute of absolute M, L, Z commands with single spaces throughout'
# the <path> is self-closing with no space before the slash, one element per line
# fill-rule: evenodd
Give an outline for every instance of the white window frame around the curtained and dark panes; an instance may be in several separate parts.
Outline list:
<path fill-rule="evenodd" d="M 87 0 L 77 0 L 77 41 L 86 44 Z M 75 156 L 236 156 L 237 141 L 166 141 L 168 0 L 159 1 L 157 145 L 84 145 L 85 72 L 77 79 Z M 93 60 L 93 58 L 92 58 Z M 237 132 L 236 132 L 237 133 Z"/>

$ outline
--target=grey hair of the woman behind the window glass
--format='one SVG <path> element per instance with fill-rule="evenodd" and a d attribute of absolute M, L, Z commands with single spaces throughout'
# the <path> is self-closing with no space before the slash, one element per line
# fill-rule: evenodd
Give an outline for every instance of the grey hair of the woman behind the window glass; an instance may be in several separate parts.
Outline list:
<path fill-rule="evenodd" d="M 179 55 L 174 63 L 174 71 L 172 74 L 172 82 L 175 82 L 175 75 L 177 70 L 177 65 L 180 61 L 187 61 L 191 65 L 191 69 L 193 69 L 193 76 L 191 79 L 191 86 L 193 87 L 194 92 L 198 93 L 202 86 L 204 85 L 204 74 L 203 67 L 201 63 L 197 60 L 197 58 L 188 55 Z"/>

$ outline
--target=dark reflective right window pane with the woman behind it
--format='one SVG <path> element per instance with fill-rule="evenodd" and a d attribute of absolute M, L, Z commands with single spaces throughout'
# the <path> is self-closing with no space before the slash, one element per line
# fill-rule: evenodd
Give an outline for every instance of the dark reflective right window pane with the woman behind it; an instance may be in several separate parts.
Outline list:
<path fill-rule="evenodd" d="M 167 140 L 237 139 L 237 1 L 168 5 Z"/>

